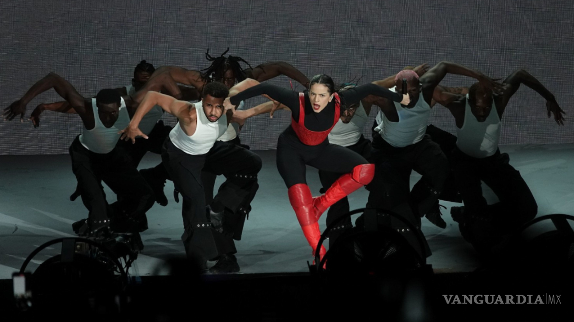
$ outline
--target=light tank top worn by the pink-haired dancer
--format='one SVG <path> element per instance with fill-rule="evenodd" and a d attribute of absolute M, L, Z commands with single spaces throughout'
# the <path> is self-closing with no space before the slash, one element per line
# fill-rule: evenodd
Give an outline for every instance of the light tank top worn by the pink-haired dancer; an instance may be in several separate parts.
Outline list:
<path fill-rule="evenodd" d="M 395 91 L 394 88 L 390 90 Z M 420 142 L 425 136 L 426 124 L 430 117 L 430 106 L 422 97 L 422 93 L 413 108 L 403 108 L 401 103 L 393 103 L 397 109 L 398 122 L 389 121 L 384 113 L 379 111 L 381 116 L 377 116 L 377 119 L 381 119 L 382 122 L 375 131 L 393 147 L 402 148 Z"/>

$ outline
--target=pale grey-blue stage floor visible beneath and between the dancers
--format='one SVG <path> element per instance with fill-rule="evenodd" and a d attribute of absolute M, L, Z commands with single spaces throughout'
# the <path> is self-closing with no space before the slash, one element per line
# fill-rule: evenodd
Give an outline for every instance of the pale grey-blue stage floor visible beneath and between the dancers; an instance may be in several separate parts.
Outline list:
<path fill-rule="evenodd" d="M 519 170 L 538 202 L 538 216 L 574 214 L 574 144 L 502 146 L 510 163 Z M 303 237 L 287 198 L 287 189 L 277 172 L 275 151 L 257 151 L 263 159 L 259 191 L 253 211 L 245 223 L 242 240 L 237 242 L 241 273 L 307 272 L 311 248 Z M 156 165 L 160 156 L 148 154 L 141 168 Z M 411 184 L 420 176 L 413 172 Z M 314 195 L 321 187 L 319 176 L 309 167 L 307 180 Z M 218 178 L 216 187 L 222 182 Z M 0 156 L 0 279 L 10 278 L 37 246 L 54 238 L 73 237 L 71 224 L 87 217 L 78 198 L 69 201 L 75 190 L 68 155 Z M 108 201 L 115 195 L 105 187 Z M 496 198 L 484 189 L 489 203 Z M 173 184 L 165 187 L 169 205 L 154 205 L 148 212 L 149 229 L 141 234 L 145 249 L 135 262 L 132 274 L 150 276 L 169 257 L 184 256 L 181 243 L 183 223 L 181 203 L 173 200 Z M 350 196 L 351 209 L 364 207 L 368 191 Z M 441 202 L 447 209 L 447 228 L 422 219 L 422 231 L 433 254 L 428 258 L 435 272 L 470 272 L 480 265 L 475 252 L 460 236 L 450 208 L 460 204 Z M 325 228 L 324 215 L 321 229 Z M 42 261 L 59 254 L 59 245 L 38 254 L 28 266 L 34 270 Z M 209 265 L 214 265 L 210 262 Z"/>

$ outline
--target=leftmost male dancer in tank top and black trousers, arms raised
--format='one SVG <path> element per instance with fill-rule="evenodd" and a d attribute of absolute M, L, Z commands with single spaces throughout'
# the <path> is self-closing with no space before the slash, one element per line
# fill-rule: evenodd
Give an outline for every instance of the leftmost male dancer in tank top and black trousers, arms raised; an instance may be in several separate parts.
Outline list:
<path fill-rule="evenodd" d="M 135 169 L 131 160 L 121 148 L 117 148 L 118 131 L 125 127 L 145 93 L 150 89 L 173 88 L 173 83 L 158 80 L 146 84 L 133 97 L 120 96 L 114 89 L 103 89 L 93 98 L 84 98 L 73 86 L 55 73 L 49 73 L 29 89 L 22 99 L 15 101 L 4 116 L 11 120 L 16 115 L 24 116 L 26 105 L 34 97 L 54 88 L 69 106 L 82 118 L 84 131 L 70 146 L 72 171 L 76 175 L 80 195 L 88 209 L 88 219 L 77 233 L 102 236 L 122 230 L 143 231 L 147 229 L 146 211 L 154 202 L 153 191 Z M 110 206 L 100 182 L 105 182 L 125 203 L 121 207 L 126 216 L 112 218 Z M 113 223 L 114 226 L 110 226 Z"/>

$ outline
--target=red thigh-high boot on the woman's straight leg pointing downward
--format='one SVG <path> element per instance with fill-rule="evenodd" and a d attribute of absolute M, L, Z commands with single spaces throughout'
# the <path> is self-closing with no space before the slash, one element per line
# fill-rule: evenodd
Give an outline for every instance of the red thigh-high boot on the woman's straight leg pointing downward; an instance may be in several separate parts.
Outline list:
<path fill-rule="evenodd" d="M 321 238 L 321 231 L 319 230 L 319 223 L 317 222 L 315 210 L 313 209 L 311 190 L 307 184 L 298 183 L 289 187 L 288 193 L 289 202 L 291 206 L 293 206 L 293 210 L 295 210 L 299 225 L 301 225 L 303 234 L 305 238 L 307 238 L 309 245 L 311 245 L 313 256 L 315 256 L 317 244 L 319 244 L 319 239 Z M 323 259 L 325 253 L 327 253 L 327 250 L 321 246 L 319 252 L 321 259 Z"/>

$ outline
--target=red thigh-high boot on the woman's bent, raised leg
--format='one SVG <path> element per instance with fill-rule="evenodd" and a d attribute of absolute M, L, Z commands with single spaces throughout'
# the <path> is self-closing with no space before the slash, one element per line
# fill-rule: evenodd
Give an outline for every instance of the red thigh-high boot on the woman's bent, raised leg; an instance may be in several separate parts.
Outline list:
<path fill-rule="evenodd" d="M 318 221 L 325 210 L 335 202 L 347 197 L 347 195 L 360 187 L 369 184 L 373 180 L 374 175 L 374 164 L 360 164 L 354 167 L 351 173 L 342 175 L 325 191 L 325 194 L 313 199 L 316 220 Z"/>

